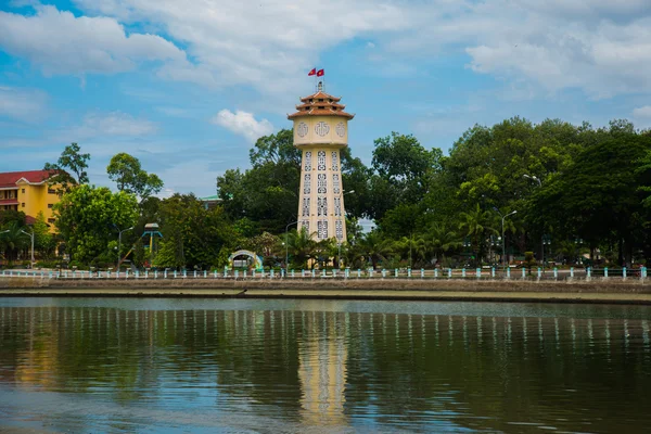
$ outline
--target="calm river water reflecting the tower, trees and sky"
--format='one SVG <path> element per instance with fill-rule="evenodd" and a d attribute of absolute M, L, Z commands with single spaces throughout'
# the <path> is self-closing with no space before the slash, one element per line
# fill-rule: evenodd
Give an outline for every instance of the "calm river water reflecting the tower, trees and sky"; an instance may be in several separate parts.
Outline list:
<path fill-rule="evenodd" d="M 168 303 L 0 307 L 0 426 L 623 432 L 651 423 L 644 308 L 532 317 L 512 305 L 480 316 L 436 304 L 426 314 L 421 304 L 370 312 Z"/>

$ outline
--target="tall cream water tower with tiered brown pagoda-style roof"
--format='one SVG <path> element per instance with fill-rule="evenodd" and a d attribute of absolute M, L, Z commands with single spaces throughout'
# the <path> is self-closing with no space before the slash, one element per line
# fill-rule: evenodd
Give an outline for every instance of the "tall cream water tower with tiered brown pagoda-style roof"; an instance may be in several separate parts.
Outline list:
<path fill-rule="evenodd" d="M 346 213 L 340 151 L 348 145 L 348 120 L 341 98 L 323 92 L 301 99 L 294 122 L 294 146 L 303 151 L 298 191 L 298 229 L 316 234 L 318 241 L 346 241 Z"/>

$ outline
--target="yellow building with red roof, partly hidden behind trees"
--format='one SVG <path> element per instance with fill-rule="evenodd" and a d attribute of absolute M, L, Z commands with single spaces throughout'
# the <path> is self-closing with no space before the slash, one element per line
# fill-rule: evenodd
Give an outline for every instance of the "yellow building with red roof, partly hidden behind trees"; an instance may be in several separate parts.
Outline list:
<path fill-rule="evenodd" d="M 0 210 L 22 210 L 27 224 L 34 222 L 38 213 L 53 230 L 52 206 L 59 202 L 56 190 L 48 186 L 48 170 L 0 173 Z"/>

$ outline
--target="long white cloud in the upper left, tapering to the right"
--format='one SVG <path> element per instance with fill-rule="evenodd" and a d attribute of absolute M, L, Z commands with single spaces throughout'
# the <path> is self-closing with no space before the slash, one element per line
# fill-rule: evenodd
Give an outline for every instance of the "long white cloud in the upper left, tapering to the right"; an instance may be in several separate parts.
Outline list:
<path fill-rule="evenodd" d="M 31 16 L 0 11 L 0 47 L 46 74 L 119 73 L 143 61 L 186 62 L 183 51 L 155 35 L 125 33 L 111 17 L 75 17 L 54 7 Z"/>

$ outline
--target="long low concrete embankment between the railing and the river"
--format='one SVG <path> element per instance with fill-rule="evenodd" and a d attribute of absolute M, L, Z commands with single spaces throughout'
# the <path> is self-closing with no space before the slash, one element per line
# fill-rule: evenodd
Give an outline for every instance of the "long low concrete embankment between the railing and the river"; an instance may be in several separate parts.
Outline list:
<path fill-rule="evenodd" d="M 421 299 L 651 305 L 640 279 L 0 279 L 0 296 Z"/>

